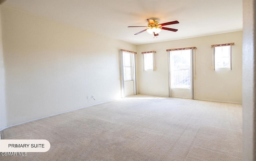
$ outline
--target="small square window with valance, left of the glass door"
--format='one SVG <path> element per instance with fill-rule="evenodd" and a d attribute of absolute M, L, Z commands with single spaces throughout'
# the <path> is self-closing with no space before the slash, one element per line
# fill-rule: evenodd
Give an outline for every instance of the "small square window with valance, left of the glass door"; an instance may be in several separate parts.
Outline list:
<path fill-rule="evenodd" d="M 155 70 L 155 54 L 156 51 L 146 51 L 142 52 L 144 57 L 144 71 Z"/>

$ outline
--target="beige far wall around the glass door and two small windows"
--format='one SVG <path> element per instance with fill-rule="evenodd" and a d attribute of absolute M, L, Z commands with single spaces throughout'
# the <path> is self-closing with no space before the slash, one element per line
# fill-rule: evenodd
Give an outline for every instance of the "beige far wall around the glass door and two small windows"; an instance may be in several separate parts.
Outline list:
<path fill-rule="evenodd" d="M 235 43 L 232 46 L 232 71 L 212 70 L 211 45 L 231 42 Z M 166 49 L 194 46 L 197 47 L 195 99 L 242 103 L 242 31 L 138 45 L 136 55 L 138 93 L 168 96 Z M 141 54 L 143 51 L 156 51 L 156 71 L 143 71 Z M 226 96 L 226 93 L 230 93 L 230 96 Z"/>

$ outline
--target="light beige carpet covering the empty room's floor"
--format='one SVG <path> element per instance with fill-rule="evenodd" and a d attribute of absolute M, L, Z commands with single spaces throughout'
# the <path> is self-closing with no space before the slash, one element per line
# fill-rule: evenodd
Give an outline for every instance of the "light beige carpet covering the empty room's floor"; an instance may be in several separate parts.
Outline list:
<path fill-rule="evenodd" d="M 45 153 L 1 161 L 241 161 L 242 105 L 137 95 L 2 131 L 47 139 Z"/>

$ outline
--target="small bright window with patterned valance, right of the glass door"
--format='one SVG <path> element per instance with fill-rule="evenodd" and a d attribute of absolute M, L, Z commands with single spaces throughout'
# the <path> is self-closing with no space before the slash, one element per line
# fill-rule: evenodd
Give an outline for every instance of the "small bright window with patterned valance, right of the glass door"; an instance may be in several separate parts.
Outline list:
<path fill-rule="evenodd" d="M 231 45 L 234 45 L 234 43 L 212 45 L 214 70 L 218 68 L 229 68 L 231 70 Z"/>

